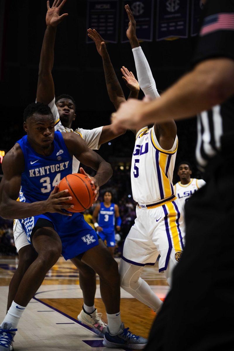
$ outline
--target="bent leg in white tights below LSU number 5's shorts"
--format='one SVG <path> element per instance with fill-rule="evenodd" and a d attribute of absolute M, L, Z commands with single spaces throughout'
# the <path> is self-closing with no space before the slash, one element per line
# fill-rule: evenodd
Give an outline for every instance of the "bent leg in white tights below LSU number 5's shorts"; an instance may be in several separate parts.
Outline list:
<path fill-rule="evenodd" d="M 162 301 L 140 276 L 144 266 L 128 263 L 121 258 L 119 266 L 120 286 L 143 304 L 158 312 Z"/>

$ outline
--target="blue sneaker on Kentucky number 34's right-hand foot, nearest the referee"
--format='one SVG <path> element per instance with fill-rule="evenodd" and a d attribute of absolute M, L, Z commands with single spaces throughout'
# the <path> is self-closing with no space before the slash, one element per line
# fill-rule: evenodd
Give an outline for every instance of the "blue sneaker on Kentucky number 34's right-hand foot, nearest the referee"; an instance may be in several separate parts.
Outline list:
<path fill-rule="evenodd" d="M 111 335 L 108 326 L 106 327 L 106 332 L 104 335 L 103 346 L 105 347 L 124 347 L 126 349 L 132 350 L 143 350 L 146 347 L 148 340 L 137 336 L 129 331 L 129 328 L 125 328 L 124 324 L 121 324 L 120 331 Z"/>

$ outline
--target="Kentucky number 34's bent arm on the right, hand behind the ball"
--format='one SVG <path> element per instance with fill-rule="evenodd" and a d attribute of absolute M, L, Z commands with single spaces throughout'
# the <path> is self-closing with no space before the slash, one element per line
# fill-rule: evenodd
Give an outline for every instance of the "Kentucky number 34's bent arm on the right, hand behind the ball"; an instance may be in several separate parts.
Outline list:
<path fill-rule="evenodd" d="M 88 148 L 85 141 L 76 133 L 62 133 L 65 144 L 71 155 L 74 155 L 83 165 L 93 168 L 97 171 L 95 177 L 90 177 L 83 168 L 80 168 L 82 174 L 86 174 L 92 179 L 96 187 L 96 197 L 98 198 L 99 187 L 105 184 L 113 174 L 111 165 L 106 162 L 99 154 Z"/>

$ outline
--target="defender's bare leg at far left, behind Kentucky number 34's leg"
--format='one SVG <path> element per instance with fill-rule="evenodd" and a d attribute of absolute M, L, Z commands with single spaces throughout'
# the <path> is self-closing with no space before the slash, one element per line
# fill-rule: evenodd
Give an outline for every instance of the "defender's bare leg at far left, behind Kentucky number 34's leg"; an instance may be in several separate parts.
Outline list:
<path fill-rule="evenodd" d="M 22 278 L 24 277 L 25 272 L 38 256 L 35 250 L 33 249 L 32 245 L 30 244 L 22 247 L 18 251 L 18 254 L 19 254 L 19 264 L 9 284 L 7 311 L 11 307 L 12 301 L 15 298 L 15 294 L 18 290 L 18 287 L 20 285 Z"/>

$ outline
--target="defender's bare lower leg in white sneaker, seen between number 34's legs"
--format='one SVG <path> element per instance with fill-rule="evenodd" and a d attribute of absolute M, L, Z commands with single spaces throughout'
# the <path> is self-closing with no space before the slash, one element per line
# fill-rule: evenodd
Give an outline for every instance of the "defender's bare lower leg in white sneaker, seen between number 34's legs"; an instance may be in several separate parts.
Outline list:
<path fill-rule="evenodd" d="M 104 338 L 106 323 L 102 320 L 102 313 L 98 313 L 94 306 L 96 292 L 96 273 L 77 257 L 71 259 L 72 263 L 79 270 L 79 283 L 83 292 L 83 307 L 77 316 L 79 322 L 89 325 L 94 332 Z"/>

